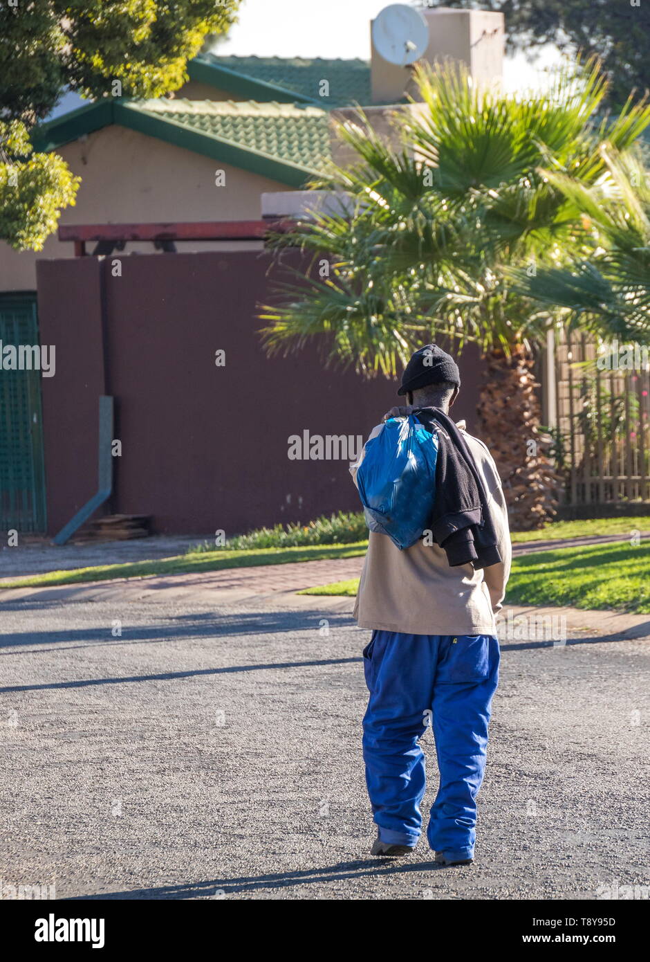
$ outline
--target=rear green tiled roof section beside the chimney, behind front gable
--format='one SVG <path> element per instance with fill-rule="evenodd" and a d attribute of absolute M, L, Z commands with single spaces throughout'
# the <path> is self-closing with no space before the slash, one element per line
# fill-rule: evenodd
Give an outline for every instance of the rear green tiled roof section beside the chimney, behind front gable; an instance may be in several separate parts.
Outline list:
<path fill-rule="evenodd" d="M 320 107 L 371 103 L 370 64 L 362 60 L 301 57 L 221 57 L 200 54 L 188 63 L 192 80 L 240 93 L 252 100 L 310 101 Z M 321 95 L 321 81 L 329 96 Z M 284 94 L 284 95 L 283 95 Z"/>

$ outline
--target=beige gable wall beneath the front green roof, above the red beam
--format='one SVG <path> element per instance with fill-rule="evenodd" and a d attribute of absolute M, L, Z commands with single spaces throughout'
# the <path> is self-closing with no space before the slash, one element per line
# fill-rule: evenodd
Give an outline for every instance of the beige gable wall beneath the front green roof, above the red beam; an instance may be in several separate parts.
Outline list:
<path fill-rule="evenodd" d="M 192 151 L 112 125 L 86 140 L 75 140 L 59 153 L 82 177 L 75 207 L 63 211 L 62 224 L 114 224 L 190 220 L 257 220 L 261 195 L 289 190 L 286 185 L 238 167 L 221 164 Z M 225 186 L 214 184 L 215 171 L 225 171 Z M 94 244 L 87 245 L 88 251 Z M 245 250 L 245 243 L 195 242 L 179 250 Z M 127 244 L 125 253 L 154 253 L 153 244 Z M 72 243 L 56 235 L 38 254 L 14 251 L 0 241 L 0 291 L 36 290 L 37 258 L 72 257 Z"/>

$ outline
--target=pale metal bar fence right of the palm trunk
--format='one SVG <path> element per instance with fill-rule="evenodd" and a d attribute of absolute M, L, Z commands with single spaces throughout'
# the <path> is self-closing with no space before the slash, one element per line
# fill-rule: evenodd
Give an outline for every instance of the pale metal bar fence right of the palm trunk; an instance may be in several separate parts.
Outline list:
<path fill-rule="evenodd" d="M 553 412 L 549 424 L 565 505 L 650 502 L 647 354 L 621 348 L 612 355 L 611 345 L 556 331 L 555 349 L 546 354 L 555 397 L 546 409 Z"/>

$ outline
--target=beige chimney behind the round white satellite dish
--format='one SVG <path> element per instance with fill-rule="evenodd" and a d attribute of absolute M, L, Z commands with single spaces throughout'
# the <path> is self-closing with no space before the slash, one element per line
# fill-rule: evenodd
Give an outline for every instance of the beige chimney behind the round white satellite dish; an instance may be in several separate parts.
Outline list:
<path fill-rule="evenodd" d="M 503 13 L 437 7 L 421 11 L 429 26 L 429 46 L 422 56 L 428 63 L 452 59 L 465 63 L 477 84 L 492 84 L 503 75 L 505 26 Z M 412 70 L 388 63 L 370 38 L 372 102 L 394 104 L 407 89 L 412 92 Z"/>

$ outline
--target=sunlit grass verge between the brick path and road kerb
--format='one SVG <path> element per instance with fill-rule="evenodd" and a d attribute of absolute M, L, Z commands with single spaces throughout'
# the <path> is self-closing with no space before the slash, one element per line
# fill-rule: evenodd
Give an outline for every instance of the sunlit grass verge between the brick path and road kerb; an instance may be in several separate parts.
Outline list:
<path fill-rule="evenodd" d="M 300 595 L 356 595 L 359 580 L 308 588 Z M 650 614 L 650 546 L 590 544 L 515 558 L 506 603 L 571 605 Z"/>

